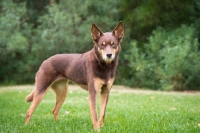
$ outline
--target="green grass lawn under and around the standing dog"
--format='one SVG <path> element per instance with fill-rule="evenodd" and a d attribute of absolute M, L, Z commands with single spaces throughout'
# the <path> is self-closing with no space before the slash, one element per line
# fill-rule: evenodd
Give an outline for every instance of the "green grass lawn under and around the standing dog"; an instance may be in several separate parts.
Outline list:
<path fill-rule="evenodd" d="M 33 87 L 16 88 L 0 88 L 0 133 L 94 132 L 87 91 L 70 89 L 61 107 L 59 121 L 53 120 L 51 110 L 55 95 L 48 91 L 31 122 L 24 125 L 25 113 L 30 105 L 25 102 L 25 97 Z M 114 86 L 107 106 L 105 126 L 100 132 L 198 133 L 199 124 L 199 93 L 118 91 Z"/>

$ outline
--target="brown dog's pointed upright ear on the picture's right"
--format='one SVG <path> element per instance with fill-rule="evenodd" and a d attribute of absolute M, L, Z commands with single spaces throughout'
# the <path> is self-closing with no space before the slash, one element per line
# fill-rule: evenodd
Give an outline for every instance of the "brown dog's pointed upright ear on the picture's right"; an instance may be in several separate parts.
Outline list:
<path fill-rule="evenodd" d="M 119 24 L 115 27 L 115 29 L 112 31 L 112 34 L 118 38 L 119 41 L 122 41 L 122 38 L 124 36 L 124 25 L 120 21 Z"/>

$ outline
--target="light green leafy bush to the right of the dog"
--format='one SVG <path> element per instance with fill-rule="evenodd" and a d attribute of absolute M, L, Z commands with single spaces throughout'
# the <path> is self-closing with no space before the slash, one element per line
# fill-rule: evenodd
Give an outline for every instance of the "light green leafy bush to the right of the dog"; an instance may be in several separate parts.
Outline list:
<path fill-rule="evenodd" d="M 199 89 L 200 55 L 193 26 L 173 31 L 158 28 L 149 37 L 145 50 L 132 42 L 126 59 L 130 62 L 132 85 L 163 90 Z"/>

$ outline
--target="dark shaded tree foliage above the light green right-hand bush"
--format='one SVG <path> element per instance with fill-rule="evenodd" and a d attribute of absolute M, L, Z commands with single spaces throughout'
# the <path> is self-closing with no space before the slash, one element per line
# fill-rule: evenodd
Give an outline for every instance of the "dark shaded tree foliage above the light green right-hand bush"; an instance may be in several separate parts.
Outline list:
<path fill-rule="evenodd" d="M 194 23 L 200 16 L 199 0 L 141 0 L 121 1 L 120 8 L 130 38 L 147 41 L 152 30 L 159 26 L 175 28 Z"/>

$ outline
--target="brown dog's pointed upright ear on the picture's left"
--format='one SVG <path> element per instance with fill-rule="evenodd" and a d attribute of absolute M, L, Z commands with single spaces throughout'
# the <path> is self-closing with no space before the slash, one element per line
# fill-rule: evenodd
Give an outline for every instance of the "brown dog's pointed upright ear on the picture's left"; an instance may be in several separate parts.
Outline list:
<path fill-rule="evenodd" d="M 103 35 L 103 32 L 93 23 L 91 28 L 91 36 L 95 42 L 98 42 L 99 38 Z"/>

